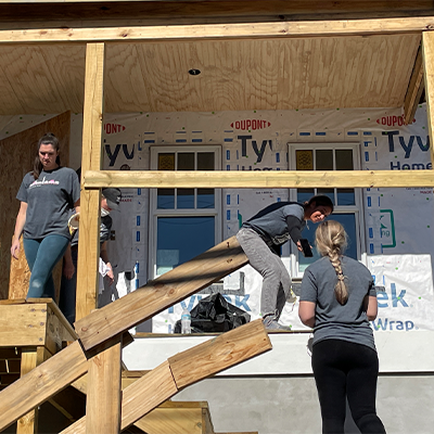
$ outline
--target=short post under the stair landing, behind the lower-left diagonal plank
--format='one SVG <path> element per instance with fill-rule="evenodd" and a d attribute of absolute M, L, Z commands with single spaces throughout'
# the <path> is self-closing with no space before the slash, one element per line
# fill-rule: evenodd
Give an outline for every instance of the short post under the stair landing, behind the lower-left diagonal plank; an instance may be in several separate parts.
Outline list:
<path fill-rule="evenodd" d="M 21 376 L 42 363 L 50 355 L 41 347 L 23 348 L 21 355 Z M 16 434 L 34 434 L 38 432 L 38 409 L 29 411 L 17 420 Z"/>

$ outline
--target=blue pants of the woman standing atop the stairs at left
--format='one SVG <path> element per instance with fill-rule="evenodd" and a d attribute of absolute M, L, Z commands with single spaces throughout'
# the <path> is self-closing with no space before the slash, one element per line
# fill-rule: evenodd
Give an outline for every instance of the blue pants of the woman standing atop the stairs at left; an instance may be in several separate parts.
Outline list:
<path fill-rule="evenodd" d="M 27 298 L 50 297 L 55 301 L 52 271 L 62 258 L 69 240 L 63 235 L 47 235 L 41 240 L 24 239 L 24 252 L 31 271 Z"/>

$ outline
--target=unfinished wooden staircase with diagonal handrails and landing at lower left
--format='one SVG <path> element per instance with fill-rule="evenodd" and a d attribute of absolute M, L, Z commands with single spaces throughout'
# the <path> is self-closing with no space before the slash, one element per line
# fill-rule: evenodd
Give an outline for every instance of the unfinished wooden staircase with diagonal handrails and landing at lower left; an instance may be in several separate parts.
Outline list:
<path fill-rule="evenodd" d="M 179 420 L 179 423 L 190 420 L 190 427 L 194 425 L 203 433 L 214 433 L 206 403 L 182 406 L 182 403 L 168 400 L 190 384 L 271 349 L 261 320 L 169 357 L 136 381 L 131 378 L 124 381 L 131 384 L 123 391 L 122 348 L 131 342 L 128 329 L 246 263 L 237 239 L 232 237 L 80 319 L 75 323 L 76 331 L 51 299 L 0 304 L 0 318 L 3 318 L 1 309 L 8 318 L 4 328 L 0 328 L 0 348 L 21 348 L 22 357 L 21 378 L 0 392 L 0 431 L 24 416 L 35 420 L 35 416 L 28 414 L 40 404 L 53 399 L 58 408 L 76 419 L 63 434 L 143 432 L 140 427 L 143 423 L 148 424 L 146 433 L 150 434 L 152 426 L 162 425 L 162 421 L 169 423 L 169 420 Z M 27 348 L 30 348 L 28 362 L 23 358 Z M 17 354 L 18 350 L 14 350 Z M 4 360 L 12 361 L 13 358 Z M 79 418 L 60 404 L 59 396 L 85 374 L 88 375 L 86 416 Z M 175 431 L 177 434 L 178 429 Z M 26 432 L 33 431 L 27 429 Z"/>

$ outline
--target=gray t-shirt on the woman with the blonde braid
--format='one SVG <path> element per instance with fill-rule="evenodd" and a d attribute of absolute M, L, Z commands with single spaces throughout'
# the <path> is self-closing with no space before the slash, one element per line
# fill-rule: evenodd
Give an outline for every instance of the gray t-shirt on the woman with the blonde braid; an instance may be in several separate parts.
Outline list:
<path fill-rule="evenodd" d="M 305 270 L 299 301 L 316 303 L 314 345 L 337 339 L 375 349 L 373 332 L 363 310 L 365 296 L 376 296 L 372 276 L 362 264 L 347 256 L 342 257 L 341 264 L 349 294 L 344 306 L 334 295 L 337 276 L 328 256 Z"/>

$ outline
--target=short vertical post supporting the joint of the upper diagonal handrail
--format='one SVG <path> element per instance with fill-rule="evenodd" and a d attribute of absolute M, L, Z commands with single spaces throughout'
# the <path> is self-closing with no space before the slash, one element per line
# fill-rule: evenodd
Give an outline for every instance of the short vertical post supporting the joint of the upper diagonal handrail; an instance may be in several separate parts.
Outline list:
<path fill-rule="evenodd" d="M 122 334 L 92 357 L 88 370 L 86 433 L 118 434 L 122 406 Z"/>

